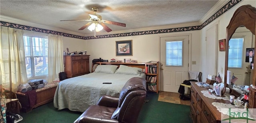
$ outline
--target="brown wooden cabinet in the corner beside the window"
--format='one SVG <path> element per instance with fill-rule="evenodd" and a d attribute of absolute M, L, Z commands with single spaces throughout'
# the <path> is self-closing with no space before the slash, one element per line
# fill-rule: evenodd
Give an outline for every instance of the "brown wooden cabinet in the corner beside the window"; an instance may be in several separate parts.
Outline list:
<path fill-rule="evenodd" d="M 90 55 L 64 56 L 66 78 L 72 78 L 90 73 L 89 56 Z"/>

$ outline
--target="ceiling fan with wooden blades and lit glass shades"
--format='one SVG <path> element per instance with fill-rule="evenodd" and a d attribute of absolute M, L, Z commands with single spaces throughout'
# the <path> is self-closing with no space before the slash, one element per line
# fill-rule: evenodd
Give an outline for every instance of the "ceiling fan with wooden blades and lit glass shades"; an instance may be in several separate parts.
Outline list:
<path fill-rule="evenodd" d="M 102 17 L 100 15 L 96 14 L 96 12 L 98 11 L 98 7 L 94 6 L 94 7 L 92 7 L 92 10 L 94 11 L 94 14 L 89 14 L 88 20 L 60 20 L 60 21 L 92 21 L 92 22 L 86 23 L 84 26 L 82 26 L 78 30 L 84 30 L 86 27 L 88 27 L 88 29 L 90 31 L 94 30 L 94 37 L 95 37 L 95 33 L 96 33 L 95 31 L 100 31 L 102 29 L 104 29 L 107 32 L 112 31 L 112 29 L 110 29 L 105 23 L 126 27 L 125 23 L 109 21 L 109 20 L 102 20 Z"/>

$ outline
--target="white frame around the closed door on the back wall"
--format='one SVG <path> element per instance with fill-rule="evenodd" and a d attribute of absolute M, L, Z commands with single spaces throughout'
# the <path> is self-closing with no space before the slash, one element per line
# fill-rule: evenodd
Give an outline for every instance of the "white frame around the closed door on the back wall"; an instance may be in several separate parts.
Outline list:
<path fill-rule="evenodd" d="M 175 37 L 175 36 L 188 36 L 188 64 L 189 64 L 189 66 L 188 66 L 188 70 L 191 70 L 191 51 L 192 51 L 192 33 L 184 33 L 184 34 L 174 34 L 174 35 L 159 35 L 158 36 L 158 59 L 160 60 L 160 56 L 161 56 L 161 53 L 160 53 L 160 51 L 161 51 L 161 49 L 160 49 L 160 39 L 161 39 L 161 37 Z M 161 80 L 161 62 L 159 61 L 159 66 L 160 67 L 158 67 L 158 69 L 159 69 L 159 86 L 158 86 L 158 89 L 159 89 L 159 91 L 162 91 L 163 90 L 163 82 L 162 82 L 162 80 Z"/>

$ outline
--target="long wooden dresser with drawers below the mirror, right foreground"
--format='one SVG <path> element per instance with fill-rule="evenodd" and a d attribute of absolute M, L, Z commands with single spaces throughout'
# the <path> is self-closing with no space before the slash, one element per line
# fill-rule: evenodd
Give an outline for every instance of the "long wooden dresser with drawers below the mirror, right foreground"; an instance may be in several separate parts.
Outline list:
<path fill-rule="evenodd" d="M 190 115 L 192 121 L 194 123 L 220 123 L 221 113 L 212 105 L 212 102 L 230 102 L 228 100 L 207 98 L 202 94 L 202 90 L 208 89 L 199 87 L 195 82 L 191 82 Z"/>

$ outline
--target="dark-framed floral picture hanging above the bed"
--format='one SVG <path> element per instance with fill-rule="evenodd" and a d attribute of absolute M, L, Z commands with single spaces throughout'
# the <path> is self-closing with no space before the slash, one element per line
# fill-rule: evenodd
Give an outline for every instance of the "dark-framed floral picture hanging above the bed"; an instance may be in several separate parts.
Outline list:
<path fill-rule="evenodd" d="M 132 56 L 132 40 L 116 41 L 116 56 Z"/>

